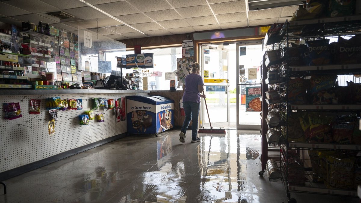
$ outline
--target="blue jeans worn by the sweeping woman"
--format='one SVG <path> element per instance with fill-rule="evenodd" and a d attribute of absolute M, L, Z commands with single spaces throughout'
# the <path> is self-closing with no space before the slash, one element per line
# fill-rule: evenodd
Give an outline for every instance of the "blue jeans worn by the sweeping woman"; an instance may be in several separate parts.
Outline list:
<path fill-rule="evenodd" d="M 183 121 L 183 126 L 181 128 L 181 131 L 184 134 L 186 134 L 189 123 L 192 120 L 193 121 L 193 123 L 192 123 L 192 138 L 197 137 L 197 133 L 198 133 L 198 131 L 197 131 L 198 130 L 198 115 L 199 115 L 200 106 L 201 106 L 201 104 L 196 103 L 196 102 L 183 102 L 183 108 L 184 108 L 184 113 L 186 113 L 186 118 Z"/>

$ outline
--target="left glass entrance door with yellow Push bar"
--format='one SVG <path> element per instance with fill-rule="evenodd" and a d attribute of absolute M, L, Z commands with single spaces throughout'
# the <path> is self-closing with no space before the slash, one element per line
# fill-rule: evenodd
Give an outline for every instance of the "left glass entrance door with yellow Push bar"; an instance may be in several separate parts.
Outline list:
<path fill-rule="evenodd" d="M 204 78 L 205 100 L 212 127 L 224 128 L 230 125 L 228 51 L 225 48 L 211 46 L 200 48 L 201 75 Z M 207 128 L 209 121 L 204 102 L 201 109 L 201 127 Z"/>

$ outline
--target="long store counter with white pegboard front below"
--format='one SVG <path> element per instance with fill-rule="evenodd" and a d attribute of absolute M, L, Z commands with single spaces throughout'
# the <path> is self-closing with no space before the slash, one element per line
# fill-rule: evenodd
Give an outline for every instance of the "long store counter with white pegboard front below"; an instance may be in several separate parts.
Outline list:
<path fill-rule="evenodd" d="M 3 147 L 0 154 L 3 157 L 0 169 L 0 181 L 21 173 L 34 170 L 49 163 L 78 154 L 101 144 L 125 137 L 127 124 L 125 119 L 125 96 L 148 95 L 150 91 L 142 90 L 0 90 L 0 137 Z M 82 109 L 56 110 L 58 120 L 51 122 L 51 113 L 47 110 L 47 98 L 60 97 L 61 100 L 82 100 Z M 118 108 L 93 109 L 94 98 L 113 100 Z M 40 100 L 40 105 L 34 113 L 31 99 Z M 103 99 L 101 99 L 103 101 Z M 4 103 L 12 112 L 4 112 Z M 18 103 L 20 111 L 13 108 L 12 103 Z M 105 102 L 104 102 L 105 103 Z M 11 108 L 10 108 L 11 107 Z M 39 108 L 38 108 L 39 107 Z M 87 112 L 93 110 L 94 120 L 88 125 L 80 125 Z M 36 110 L 35 110 L 36 111 Z M 97 114 L 104 118 L 99 122 Z M 119 116 L 120 115 L 120 116 Z M 52 128 L 52 127 L 55 128 Z M 55 133 L 53 133 L 55 129 Z"/>

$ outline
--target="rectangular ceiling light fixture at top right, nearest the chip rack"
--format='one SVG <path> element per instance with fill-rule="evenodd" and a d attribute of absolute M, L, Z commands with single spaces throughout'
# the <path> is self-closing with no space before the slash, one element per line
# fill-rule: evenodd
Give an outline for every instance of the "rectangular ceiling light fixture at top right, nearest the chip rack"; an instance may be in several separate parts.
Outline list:
<path fill-rule="evenodd" d="M 249 10 L 261 10 L 301 5 L 301 0 L 248 0 Z"/>

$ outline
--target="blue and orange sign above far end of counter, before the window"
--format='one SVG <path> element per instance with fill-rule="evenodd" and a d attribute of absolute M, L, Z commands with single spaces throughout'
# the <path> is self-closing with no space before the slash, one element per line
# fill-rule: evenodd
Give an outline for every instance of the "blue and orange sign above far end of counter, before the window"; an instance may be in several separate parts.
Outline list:
<path fill-rule="evenodd" d="M 153 68 L 153 53 L 127 55 L 127 69 L 135 67 Z"/>

